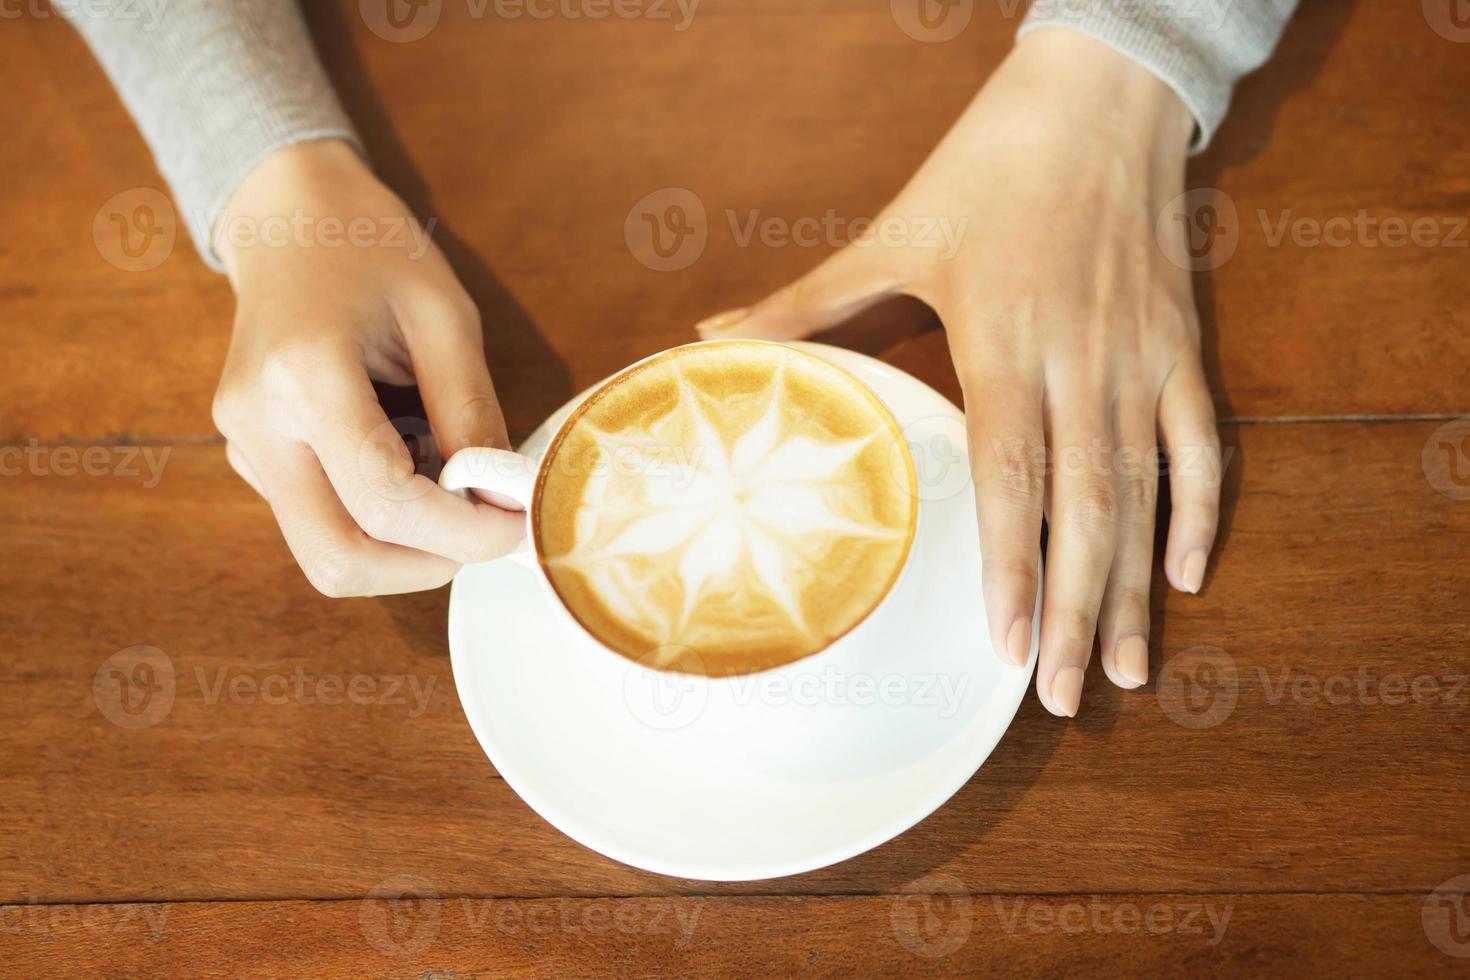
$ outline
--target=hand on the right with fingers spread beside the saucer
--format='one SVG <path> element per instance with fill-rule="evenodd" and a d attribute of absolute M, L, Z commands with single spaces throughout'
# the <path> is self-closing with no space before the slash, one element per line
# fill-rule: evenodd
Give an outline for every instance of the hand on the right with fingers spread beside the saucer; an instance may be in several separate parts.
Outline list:
<path fill-rule="evenodd" d="M 1192 125 L 1125 56 L 1035 31 L 875 219 L 900 234 L 850 244 L 698 326 L 792 339 L 894 294 L 939 314 L 964 392 L 991 642 L 1019 664 L 1044 513 L 1050 525 L 1036 695 L 1058 716 L 1078 711 L 1094 636 L 1113 683 L 1148 680 L 1155 426 L 1176 589 L 1200 589 L 1214 542 L 1220 444 L 1191 281 L 1161 251 L 1177 242 L 1155 241 L 1155 217 L 1183 190 Z M 935 220 L 958 231 L 950 253 L 920 241 Z"/>

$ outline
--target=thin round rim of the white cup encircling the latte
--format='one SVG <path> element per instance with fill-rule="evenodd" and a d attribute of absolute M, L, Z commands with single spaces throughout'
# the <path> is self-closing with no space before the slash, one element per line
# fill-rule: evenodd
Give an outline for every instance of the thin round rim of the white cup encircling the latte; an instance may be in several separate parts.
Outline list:
<path fill-rule="evenodd" d="M 795 660 L 788 660 L 785 663 L 775 664 L 772 667 L 763 667 L 760 670 L 747 670 L 747 671 L 742 671 L 742 673 L 710 674 L 710 673 L 694 673 L 694 671 L 688 671 L 688 670 L 679 670 L 676 667 L 670 667 L 670 669 L 651 667 L 651 666 L 642 663 L 641 660 L 637 660 L 634 657 L 629 657 L 629 655 L 626 655 L 626 654 L 614 649 L 612 645 L 609 645 L 607 642 L 604 642 L 603 639 L 600 639 L 581 620 L 581 617 L 578 617 L 578 614 L 572 610 L 572 607 L 567 605 L 567 602 L 562 598 L 562 594 L 557 592 L 556 585 L 553 585 L 551 576 L 547 572 L 545 563 L 542 561 L 542 557 L 541 557 L 541 541 L 539 541 L 538 525 L 537 525 L 537 513 L 539 511 L 539 507 L 541 507 L 541 494 L 542 494 L 542 489 L 544 489 L 544 485 L 545 485 L 545 478 L 547 478 L 547 472 L 550 469 L 550 463 L 551 463 L 553 458 L 556 458 L 557 448 L 562 445 L 562 441 L 570 432 L 572 426 L 587 413 L 587 410 L 597 401 L 597 398 L 600 395 L 603 395 L 606 391 L 609 391 L 613 385 L 617 385 L 622 381 L 625 381 L 629 375 L 634 375 L 634 373 L 637 373 L 639 370 L 647 370 L 654 363 L 667 360 L 670 357 L 676 357 L 676 356 L 679 356 L 679 354 L 682 354 L 682 353 L 685 353 L 685 351 L 688 351 L 691 348 L 707 348 L 707 347 L 779 347 L 784 351 L 788 351 L 789 354 L 816 360 L 820 364 L 823 364 L 825 367 L 828 367 L 831 370 L 835 370 L 839 375 L 842 375 L 853 386 L 856 386 L 856 389 L 858 392 L 861 392 L 869 400 L 869 403 L 878 411 L 879 417 L 888 425 L 888 428 L 891 430 L 891 435 L 894 438 L 894 445 L 898 448 L 900 455 L 901 455 L 903 463 L 904 463 L 904 473 L 907 476 L 907 483 L 908 483 L 907 488 L 906 488 L 907 489 L 907 497 L 908 497 L 908 500 L 913 504 L 911 510 L 908 513 L 908 529 L 907 529 L 907 536 L 906 536 L 906 541 L 904 541 L 903 557 L 897 561 L 895 569 L 894 569 L 892 574 L 888 577 L 888 582 L 883 586 L 883 592 L 879 595 L 878 601 L 873 602 L 873 605 L 863 616 L 860 616 L 851 626 L 848 626 L 845 630 L 842 630 L 841 633 L 838 633 L 836 636 L 833 636 L 832 639 L 829 639 L 825 645 L 822 645 L 819 649 L 814 649 L 810 654 L 803 654 L 801 657 L 797 657 Z M 526 545 L 528 545 L 528 552 L 529 552 L 529 558 L 531 558 L 529 564 L 534 567 L 537 577 L 541 580 L 542 588 L 550 594 L 550 598 L 551 598 L 553 604 L 557 607 L 557 610 L 560 610 L 563 619 L 566 619 L 567 621 L 573 623 L 576 626 L 576 629 L 582 633 L 582 636 L 585 636 L 587 639 L 589 639 L 604 654 L 609 654 L 609 655 L 614 657 L 617 663 L 620 663 L 620 664 L 623 664 L 626 667 L 637 667 L 637 669 L 647 670 L 647 671 L 651 671 L 651 673 L 656 673 L 656 674 L 664 674 L 664 676 L 666 674 L 679 674 L 682 677 L 691 677 L 691 679 L 697 679 L 697 680 L 701 680 L 701 682 L 706 682 L 706 683 L 713 683 L 713 685 L 739 683 L 739 682 L 748 682 L 748 679 L 751 679 L 751 677 L 772 676 L 772 674 L 776 674 L 779 671 L 785 671 L 788 669 L 794 669 L 797 666 L 807 666 L 807 667 L 810 667 L 810 664 L 811 664 L 813 660 L 822 658 L 825 654 L 831 654 L 835 649 L 839 649 L 839 648 L 845 646 L 847 644 L 844 641 L 847 641 L 856 632 L 858 632 L 863 626 L 866 626 L 867 623 L 870 623 L 882 611 L 882 608 L 889 604 L 889 599 L 898 591 L 900 582 L 907 574 L 908 566 L 913 564 L 914 545 L 919 541 L 919 519 L 920 519 L 920 511 L 922 511 L 920 502 L 922 501 L 920 501 L 920 497 L 919 497 L 919 476 L 917 476 L 917 472 L 914 469 L 913 453 L 910 453 L 908 444 L 904 439 L 903 426 L 898 425 L 898 419 L 894 417 L 894 413 L 888 408 L 888 406 L 883 403 L 883 400 L 878 397 L 878 392 L 875 392 L 866 382 L 863 382 L 861 378 L 858 378 L 853 372 L 847 370 L 841 364 L 836 364 L 836 363 L 833 363 L 831 360 L 826 360 L 825 357 L 813 354 L 811 351 L 801 350 L 800 347 L 794 347 L 791 344 L 784 344 L 781 341 L 766 341 L 766 339 L 759 339 L 759 338 L 729 338 L 729 339 L 711 339 L 711 341 L 691 341 L 689 344 L 679 344 L 676 347 L 669 347 L 669 348 L 664 348 L 662 351 L 656 351 L 653 354 L 648 354 L 647 357 L 642 357 L 642 359 L 634 361 L 632 364 L 628 364 L 622 370 L 614 372 L 613 375 L 610 375 L 609 378 L 606 378 L 603 382 L 600 382 L 598 385 L 595 385 L 591 391 L 588 391 L 576 403 L 576 406 L 573 406 L 572 411 L 567 413 L 566 419 L 563 419 L 557 425 L 556 430 L 551 433 L 551 438 L 547 441 L 545 447 L 541 450 L 541 457 L 537 460 L 537 475 L 535 475 L 535 480 L 534 480 L 532 489 L 531 489 L 531 500 L 526 501 Z M 695 651 L 695 652 L 698 652 L 698 651 Z"/>

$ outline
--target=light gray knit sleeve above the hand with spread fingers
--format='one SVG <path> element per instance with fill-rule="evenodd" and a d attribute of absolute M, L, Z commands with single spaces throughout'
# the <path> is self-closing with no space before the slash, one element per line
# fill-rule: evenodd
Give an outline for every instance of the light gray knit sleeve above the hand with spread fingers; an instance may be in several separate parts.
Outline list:
<path fill-rule="evenodd" d="M 1017 38 L 1070 28 L 1129 56 L 1194 113 L 1191 150 L 1208 145 L 1236 79 L 1266 63 L 1297 0 L 1033 0 Z"/>

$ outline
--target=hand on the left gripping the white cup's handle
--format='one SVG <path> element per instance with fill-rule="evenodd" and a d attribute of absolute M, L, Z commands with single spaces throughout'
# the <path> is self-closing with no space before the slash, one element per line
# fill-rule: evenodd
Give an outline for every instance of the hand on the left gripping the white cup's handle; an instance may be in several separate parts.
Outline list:
<path fill-rule="evenodd" d="M 509 445 L 475 303 L 356 151 L 315 141 L 270 154 L 215 244 L 237 295 L 215 425 L 312 585 L 429 589 L 510 551 L 523 517 L 415 475 L 378 404 L 373 381 L 417 382 L 445 457 Z"/>

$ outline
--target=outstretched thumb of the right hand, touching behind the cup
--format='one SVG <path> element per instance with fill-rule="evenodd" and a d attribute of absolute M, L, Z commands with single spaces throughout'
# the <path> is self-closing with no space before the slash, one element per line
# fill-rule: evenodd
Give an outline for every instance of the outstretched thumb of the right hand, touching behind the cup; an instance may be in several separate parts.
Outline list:
<path fill-rule="evenodd" d="M 756 306 L 711 316 L 694 329 L 704 339 L 808 336 L 898 294 L 900 254 L 878 242 L 854 242 Z"/>

